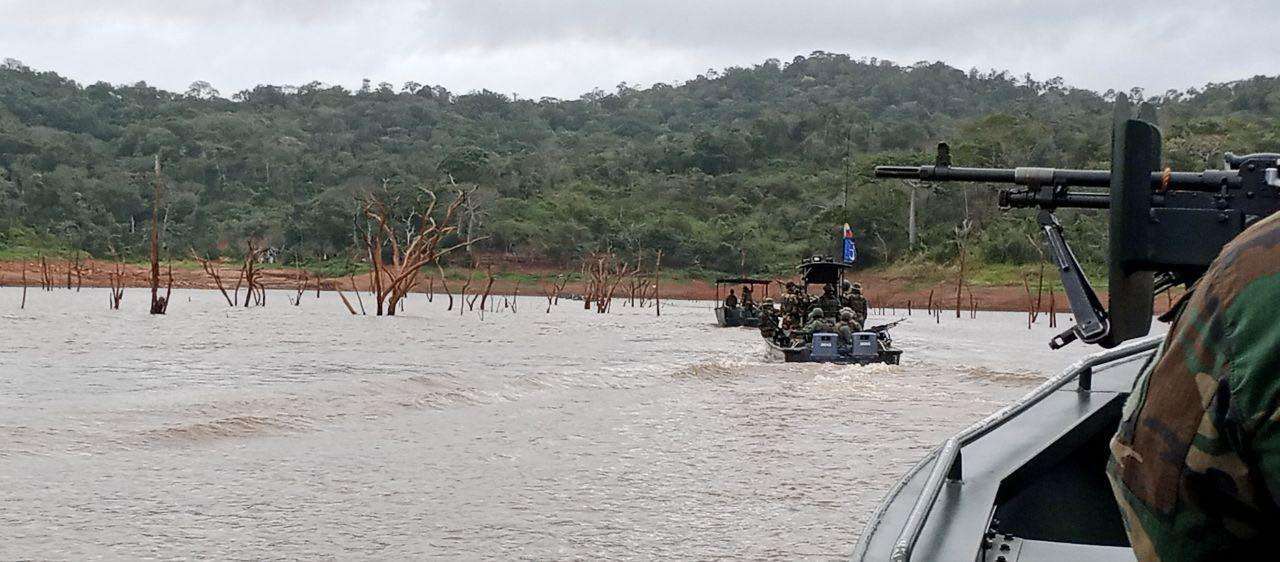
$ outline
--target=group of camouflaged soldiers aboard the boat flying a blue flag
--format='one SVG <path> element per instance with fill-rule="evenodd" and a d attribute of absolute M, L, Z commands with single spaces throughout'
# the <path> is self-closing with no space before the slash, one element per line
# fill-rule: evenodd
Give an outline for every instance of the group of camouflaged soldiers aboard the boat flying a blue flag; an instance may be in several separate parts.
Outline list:
<path fill-rule="evenodd" d="M 780 306 L 765 298 L 760 314 L 760 335 L 780 346 L 808 342 L 815 333 L 840 334 L 841 342 L 852 343 L 861 332 L 869 307 L 860 283 L 826 284 L 814 298 L 799 283 L 788 282 Z"/>

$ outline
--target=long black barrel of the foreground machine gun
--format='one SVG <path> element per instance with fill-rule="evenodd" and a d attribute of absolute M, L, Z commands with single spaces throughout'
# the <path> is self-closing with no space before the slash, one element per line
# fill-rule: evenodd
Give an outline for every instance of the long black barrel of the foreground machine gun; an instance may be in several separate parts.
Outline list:
<path fill-rule="evenodd" d="M 1111 172 L 1108 170 L 1073 170 L 1066 168 L 876 166 L 876 177 L 918 179 L 922 182 L 1012 183 L 1027 187 L 1111 186 Z M 1238 183 L 1239 173 L 1236 170 L 1155 172 L 1151 174 L 1152 188 L 1161 189 L 1219 191 L 1224 186 Z M 1106 205 L 1092 209 L 1105 207 Z"/>

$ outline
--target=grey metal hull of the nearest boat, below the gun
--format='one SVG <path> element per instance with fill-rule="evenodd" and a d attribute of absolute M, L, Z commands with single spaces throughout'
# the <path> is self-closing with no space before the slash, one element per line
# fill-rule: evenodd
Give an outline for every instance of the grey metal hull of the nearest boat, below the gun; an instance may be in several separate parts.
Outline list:
<path fill-rule="evenodd" d="M 868 520 L 854 559 L 1133 561 L 1105 474 L 1155 346 L 1129 347 L 1078 364 L 922 460 Z"/>

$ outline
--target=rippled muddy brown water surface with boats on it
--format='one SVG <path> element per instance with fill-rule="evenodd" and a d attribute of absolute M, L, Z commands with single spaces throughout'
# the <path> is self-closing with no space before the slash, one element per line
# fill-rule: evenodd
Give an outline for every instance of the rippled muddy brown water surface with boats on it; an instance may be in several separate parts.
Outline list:
<path fill-rule="evenodd" d="M 838 558 L 932 447 L 1087 351 L 996 312 L 915 311 L 902 365 L 859 367 L 782 364 L 703 302 L 19 300 L 0 559 Z"/>

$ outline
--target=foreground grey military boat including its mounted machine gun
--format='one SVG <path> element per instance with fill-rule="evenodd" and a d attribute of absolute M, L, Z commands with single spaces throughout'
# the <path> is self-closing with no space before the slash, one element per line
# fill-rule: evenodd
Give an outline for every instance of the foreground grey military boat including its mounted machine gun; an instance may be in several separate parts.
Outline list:
<path fill-rule="evenodd" d="M 855 559 L 1135 559 L 1106 465 L 1134 380 L 1158 355 L 1160 337 L 1147 335 L 1153 296 L 1193 285 L 1224 245 L 1280 210 L 1280 155 L 1228 154 L 1222 170 L 1185 173 L 1164 168 L 1160 149 L 1155 109 L 1143 104 L 1130 119 L 1121 96 L 1110 172 L 952 168 L 946 145 L 932 166 L 877 168 L 882 178 L 1021 186 L 1002 191 L 1001 204 L 1039 210 L 1075 319 L 1050 347 L 1107 351 L 920 460 L 868 520 Z M 1108 209 L 1106 309 L 1053 216 L 1060 207 Z"/>

